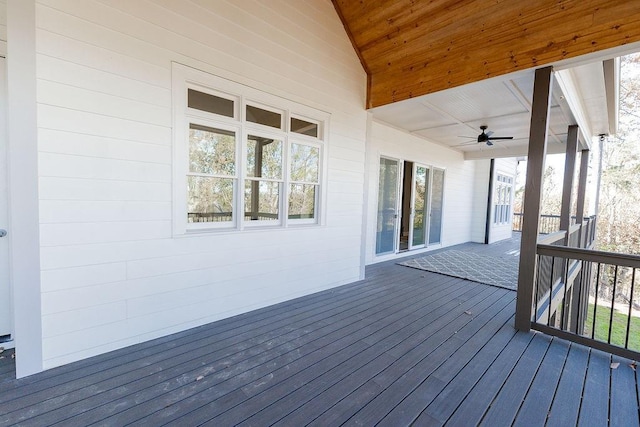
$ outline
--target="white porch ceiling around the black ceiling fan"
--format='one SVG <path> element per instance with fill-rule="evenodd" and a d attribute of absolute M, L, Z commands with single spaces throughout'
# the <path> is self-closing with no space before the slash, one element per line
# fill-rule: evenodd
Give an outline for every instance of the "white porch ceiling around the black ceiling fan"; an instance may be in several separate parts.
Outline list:
<path fill-rule="evenodd" d="M 567 128 L 578 124 L 588 146 L 592 135 L 609 133 L 609 117 L 602 61 L 555 73 L 551 100 L 548 151 L 565 151 Z M 465 158 L 526 155 L 531 121 L 534 70 L 376 107 L 375 120 L 405 130 L 453 150 Z M 488 126 L 492 147 L 476 142 L 480 126 Z M 603 131 L 603 129 L 605 129 Z M 586 148 L 586 147 L 585 147 Z"/>

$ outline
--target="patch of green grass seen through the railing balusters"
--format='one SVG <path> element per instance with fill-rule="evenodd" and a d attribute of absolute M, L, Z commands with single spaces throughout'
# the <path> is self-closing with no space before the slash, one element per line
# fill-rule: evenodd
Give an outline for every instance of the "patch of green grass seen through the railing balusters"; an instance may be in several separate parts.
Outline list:
<path fill-rule="evenodd" d="M 598 306 L 596 310 L 595 338 L 607 342 L 609 337 L 609 318 L 611 307 Z M 613 311 L 613 323 L 611 324 L 611 344 L 624 347 L 627 333 L 627 320 L 629 316 L 620 311 Z M 585 335 L 591 337 L 593 324 L 593 304 L 589 304 L 589 313 L 585 325 Z M 640 318 L 631 317 L 631 331 L 629 332 L 629 349 L 640 351 Z"/>

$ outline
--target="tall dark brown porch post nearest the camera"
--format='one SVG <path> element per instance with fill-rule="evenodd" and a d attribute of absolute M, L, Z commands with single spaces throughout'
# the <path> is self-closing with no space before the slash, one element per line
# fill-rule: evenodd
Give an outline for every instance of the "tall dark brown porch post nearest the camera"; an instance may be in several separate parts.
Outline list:
<path fill-rule="evenodd" d="M 547 154 L 547 132 L 552 86 L 553 68 L 537 69 L 533 84 L 533 104 L 531 106 L 527 179 L 516 301 L 515 327 L 521 331 L 529 331 L 531 329 L 533 293 L 536 281 L 538 226 L 540 222 L 544 160 Z"/>

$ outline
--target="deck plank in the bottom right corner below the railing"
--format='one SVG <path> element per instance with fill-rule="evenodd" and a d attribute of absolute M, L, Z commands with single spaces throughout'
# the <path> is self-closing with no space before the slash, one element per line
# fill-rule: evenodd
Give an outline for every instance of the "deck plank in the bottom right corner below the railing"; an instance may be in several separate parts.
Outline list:
<path fill-rule="evenodd" d="M 635 370 L 631 361 L 613 356 L 613 363 L 618 367 L 611 369 L 610 420 L 612 426 L 637 427 L 640 425 L 638 413 L 638 396 L 628 390 L 636 388 Z"/>

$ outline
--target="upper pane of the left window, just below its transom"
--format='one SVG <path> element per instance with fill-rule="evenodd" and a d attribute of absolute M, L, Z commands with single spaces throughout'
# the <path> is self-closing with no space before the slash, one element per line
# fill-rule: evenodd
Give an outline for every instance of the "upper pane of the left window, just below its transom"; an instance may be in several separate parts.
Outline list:
<path fill-rule="evenodd" d="M 235 133 L 206 126 L 189 125 L 189 172 L 235 175 Z"/>

